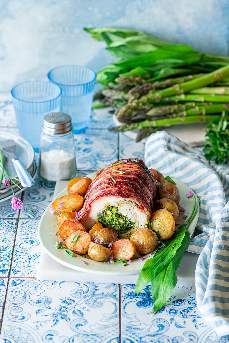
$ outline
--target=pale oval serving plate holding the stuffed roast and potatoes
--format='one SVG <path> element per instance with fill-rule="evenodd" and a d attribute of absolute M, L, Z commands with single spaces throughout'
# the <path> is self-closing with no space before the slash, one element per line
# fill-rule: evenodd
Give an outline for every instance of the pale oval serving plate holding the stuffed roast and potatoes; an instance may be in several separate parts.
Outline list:
<path fill-rule="evenodd" d="M 88 177 L 92 178 L 94 175 L 89 174 Z M 185 185 L 182 181 L 173 178 L 176 182 L 177 187 L 179 188 L 180 192 L 180 204 L 186 210 L 185 214 L 189 217 L 193 210 L 193 197 L 188 199 L 186 197 L 186 193 L 190 190 L 190 188 Z M 63 197 L 67 194 L 67 188 L 65 188 L 62 192 L 58 194 L 55 199 Z M 75 257 L 67 256 L 63 249 L 56 249 L 56 241 L 60 240 L 59 236 L 55 236 L 55 233 L 58 232 L 58 223 L 56 222 L 56 215 L 51 214 L 49 211 L 49 207 L 43 213 L 39 226 L 38 226 L 38 237 L 40 240 L 41 245 L 43 246 L 44 250 L 47 252 L 49 256 L 51 256 L 57 262 L 65 265 L 66 267 L 79 270 L 81 272 L 91 273 L 91 274 L 105 274 L 105 275 L 130 275 L 130 274 L 138 274 L 140 273 L 145 261 L 149 258 L 152 258 L 152 255 L 144 255 L 143 261 L 139 259 L 133 260 L 130 264 L 123 267 L 121 263 L 109 263 L 109 262 L 97 262 L 91 260 L 89 257 L 83 257 L 80 255 L 76 255 Z M 193 234 L 196 223 L 199 217 L 199 206 L 196 212 L 195 217 L 193 218 L 191 224 L 188 227 L 188 232 L 190 236 Z M 86 260 L 87 264 L 83 264 L 80 260 Z"/>

